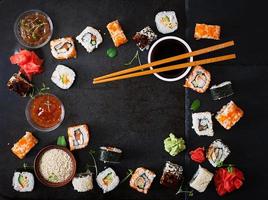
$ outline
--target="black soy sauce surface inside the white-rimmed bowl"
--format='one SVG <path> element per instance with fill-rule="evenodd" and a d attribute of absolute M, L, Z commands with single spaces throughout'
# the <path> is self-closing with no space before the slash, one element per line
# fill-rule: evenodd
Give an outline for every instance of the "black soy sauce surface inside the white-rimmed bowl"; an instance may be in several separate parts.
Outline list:
<path fill-rule="evenodd" d="M 180 55 L 183 53 L 187 53 L 188 50 L 187 48 L 178 40 L 174 39 L 167 39 L 159 42 L 153 49 L 152 54 L 151 54 L 151 62 L 156 61 L 156 60 L 161 60 L 164 58 Z M 185 63 L 189 62 L 189 59 L 183 59 L 175 62 L 170 62 L 164 65 L 159 65 L 154 68 L 159 68 L 159 67 L 166 67 L 170 65 L 176 65 L 179 63 Z M 186 69 L 179 69 L 179 70 L 172 70 L 168 72 L 161 72 L 158 73 L 160 76 L 164 78 L 176 78 L 180 76 L 181 74 L 184 73 Z"/>

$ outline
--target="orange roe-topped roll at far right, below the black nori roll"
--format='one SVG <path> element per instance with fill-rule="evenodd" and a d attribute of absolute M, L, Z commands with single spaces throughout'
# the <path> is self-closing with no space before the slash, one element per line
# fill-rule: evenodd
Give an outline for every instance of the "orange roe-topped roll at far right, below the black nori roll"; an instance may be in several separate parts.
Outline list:
<path fill-rule="evenodd" d="M 244 111 L 239 108 L 233 101 L 217 112 L 217 121 L 227 130 L 231 129 L 243 117 Z"/>

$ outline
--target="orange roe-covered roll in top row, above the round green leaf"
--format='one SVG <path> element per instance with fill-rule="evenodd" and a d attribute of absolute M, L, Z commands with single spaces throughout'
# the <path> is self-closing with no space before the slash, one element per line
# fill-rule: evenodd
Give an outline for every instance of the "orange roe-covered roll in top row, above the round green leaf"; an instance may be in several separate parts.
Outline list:
<path fill-rule="evenodd" d="M 106 27 L 114 42 L 114 46 L 119 47 L 122 44 L 125 44 L 128 42 L 118 20 L 110 22 Z"/>

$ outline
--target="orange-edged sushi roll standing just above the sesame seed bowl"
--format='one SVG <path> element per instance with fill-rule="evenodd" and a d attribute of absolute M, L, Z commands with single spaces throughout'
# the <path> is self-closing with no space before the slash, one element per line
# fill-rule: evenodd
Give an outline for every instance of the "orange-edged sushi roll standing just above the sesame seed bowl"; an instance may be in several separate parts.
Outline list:
<path fill-rule="evenodd" d="M 90 134 L 86 124 L 69 127 L 67 132 L 71 151 L 88 145 Z"/>

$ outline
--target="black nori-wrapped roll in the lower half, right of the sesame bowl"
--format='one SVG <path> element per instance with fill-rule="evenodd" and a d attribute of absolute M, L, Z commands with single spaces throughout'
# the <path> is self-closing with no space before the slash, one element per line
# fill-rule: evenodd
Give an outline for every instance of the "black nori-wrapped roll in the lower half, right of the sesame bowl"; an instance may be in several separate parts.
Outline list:
<path fill-rule="evenodd" d="M 104 163 L 119 163 L 122 150 L 116 147 L 100 147 L 99 160 Z"/>

